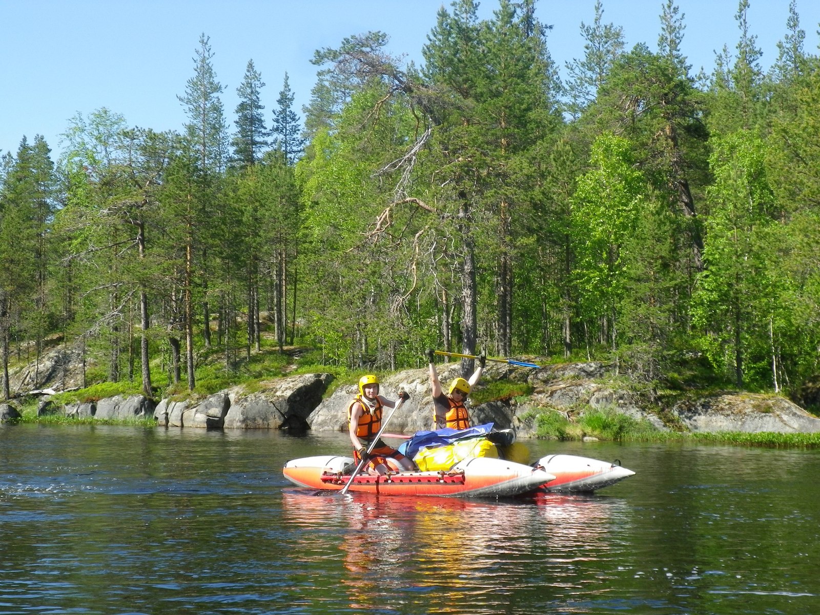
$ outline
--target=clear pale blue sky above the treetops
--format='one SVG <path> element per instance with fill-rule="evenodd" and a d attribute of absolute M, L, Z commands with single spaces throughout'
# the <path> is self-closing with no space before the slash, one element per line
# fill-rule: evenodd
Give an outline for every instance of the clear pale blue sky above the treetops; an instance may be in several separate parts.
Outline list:
<path fill-rule="evenodd" d="M 0 151 L 16 152 L 25 134 L 43 134 L 52 156 L 77 112 L 107 107 L 129 125 L 181 130 L 176 96 L 193 75 L 200 33 L 211 37 L 222 102 L 233 127 L 236 88 L 253 59 L 266 83 L 268 121 L 285 71 L 301 107 L 315 83 L 314 50 L 346 36 L 382 30 L 389 51 L 417 63 L 441 0 L 0 0 Z M 693 65 L 713 67 L 714 52 L 734 50 L 737 0 L 678 0 L 685 15 L 683 50 Z M 449 7 L 449 0 L 444 2 Z M 663 0 L 604 0 L 604 22 L 623 28 L 627 48 L 654 49 Z M 490 16 L 496 0 L 481 2 Z M 777 57 L 786 33 L 789 0 L 751 0 L 749 21 L 763 65 Z M 806 50 L 818 50 L 820 2 L 797 0 Z M 553 25 L 549 50 L 562 68 L 583 55 L 581 22 L 590 24 L 594 0 L 540 0 L 538 16 Z"/>

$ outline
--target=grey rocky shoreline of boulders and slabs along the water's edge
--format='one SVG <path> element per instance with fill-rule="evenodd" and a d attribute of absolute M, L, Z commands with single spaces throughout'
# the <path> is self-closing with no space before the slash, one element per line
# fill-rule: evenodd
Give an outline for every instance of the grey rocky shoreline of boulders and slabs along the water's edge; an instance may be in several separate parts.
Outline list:
<path fill-rule="evenodd" d="M 494 422 L 512 427 L 522 438 L 535 436 L 535 415 L 549 408 L 583 412 L 585 408 L 613 408 L 649 421 L 658 430 L 674 428 L 693 432 L 780 432 L 820 431 L 820 418 L 777 395 L 745 393 L 687 394 L 667 407 L 647 403 L 642 396 L 618 388 L 608 381 L 609 367 L 601 362 L 578 362 L 533 370 L 494 363 L 487 366 L 483 383 L 494 380 L 524 382 L 532 389 L 522 398 L 482 403 L 471 408 L 474 423 Z M 440 367 L 443 381 L 458 371 L 457 363 Z M 154 417 L 157 426 L 204 429 L 280 429 L 293 432 L 342 431 L 346 429 L 348 403 L 356 385 L 339 385 L 326 395 L 333 381 L 327 373 L 285 376 L 254 383 L 253 390 L 239 385 L 203 399 L 159 403 L 142 395 L 116 396 L 96 402 L 57 406 L 51 395 L 39 402 L 38 415 L 63 414 L 124 420 Z M 382 379 L 382 394 L 395 399 L 400 389 L 410 394 L 391 419 L 389 430 L 413 433 L 430 429 L 432 399 L 426 368 L 399 371 Z M 19 412 L 13 403 L 0 404 L 0 420 Z"/>

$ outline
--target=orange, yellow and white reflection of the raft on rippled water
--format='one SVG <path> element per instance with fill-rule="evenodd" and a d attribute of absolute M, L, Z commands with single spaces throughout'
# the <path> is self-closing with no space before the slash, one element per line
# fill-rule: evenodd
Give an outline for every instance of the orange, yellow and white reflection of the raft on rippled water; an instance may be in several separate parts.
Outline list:
<path fill-rule="evenodd" d="M 629 525 L 626 503 L 597 496 L 496 502 L 314 493 L 282 494 L 283 516 L 306 530 L 294 549 L 341 551 L 339 581 L 353 609 L 384 608 L 403 588 L 437 613 L 506 612 L 513 597 L 543 594 L 548 582 L 584 585 L 578 563 L 605 562 Z M 317 549 L 317 539 L 330 544 Z"/>

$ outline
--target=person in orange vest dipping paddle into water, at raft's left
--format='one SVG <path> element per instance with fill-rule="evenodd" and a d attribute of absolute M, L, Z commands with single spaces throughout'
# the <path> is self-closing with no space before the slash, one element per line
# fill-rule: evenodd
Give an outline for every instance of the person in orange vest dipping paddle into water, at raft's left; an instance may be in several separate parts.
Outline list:
<path fill-rule="evenodd" d="M 400 399 L 410 399 L 402 391 Z M 348 427 L 350 442 L 353 444 L 353 459 L 356 463 L 367 456 L 367 449 L 381 429 L 382 408 L 395 408 L 396 402 L 379 394 L 379 379 L 372 374 L 359 378 L 359 394 L 348 406 Z M 369 465 L 378 474 L 388 471 L 386 458 L 394 459 L 405 470 L 414 470 L 412 462 L 398 450 L 379 440 L 370 452 Z"/>

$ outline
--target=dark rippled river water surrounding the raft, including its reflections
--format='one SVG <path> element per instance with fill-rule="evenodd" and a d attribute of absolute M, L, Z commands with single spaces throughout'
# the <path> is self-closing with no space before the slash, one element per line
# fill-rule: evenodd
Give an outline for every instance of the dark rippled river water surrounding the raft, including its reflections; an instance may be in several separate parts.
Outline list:
<path fill-rule="evenodd" d="M 820 452 L 557 444 L 525 502 L 312 496 L 344 435 L 0 426 L 0 613 L 820 613 Z"/>

